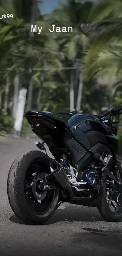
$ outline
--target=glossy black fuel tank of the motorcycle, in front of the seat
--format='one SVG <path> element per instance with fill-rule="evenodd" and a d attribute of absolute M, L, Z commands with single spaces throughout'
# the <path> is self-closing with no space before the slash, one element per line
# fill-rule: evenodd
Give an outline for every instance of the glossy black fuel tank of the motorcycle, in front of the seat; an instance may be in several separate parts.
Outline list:
<path fill-rule="evenodd" d="M 118 140 L 111 128 L 98 117 L 90 114 L 76 114 L 68 121 L 72 129 L 80 129 L 87 136 L 91 146 L 102 143 L 110 147 L 115 153 L 118 150 Z"/>

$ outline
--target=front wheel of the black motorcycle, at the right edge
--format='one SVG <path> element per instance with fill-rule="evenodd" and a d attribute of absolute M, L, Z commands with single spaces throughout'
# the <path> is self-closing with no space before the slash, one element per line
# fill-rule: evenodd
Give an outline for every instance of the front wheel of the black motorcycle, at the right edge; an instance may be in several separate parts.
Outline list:
<path fill-rule="evenodd" d="M 106 176 L 101 184 L 97 209 L 107 222 L 122 221 L 122 194 L 110 177 Z"/>

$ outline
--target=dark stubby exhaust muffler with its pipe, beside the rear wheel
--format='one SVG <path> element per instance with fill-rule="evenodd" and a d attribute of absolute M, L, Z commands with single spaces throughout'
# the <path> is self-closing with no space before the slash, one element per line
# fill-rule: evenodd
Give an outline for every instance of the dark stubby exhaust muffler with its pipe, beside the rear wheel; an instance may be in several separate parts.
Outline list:
<path fill-rule="evenodd" d="M 69 178 L 61 164 L 59 164 L 56 160 L 52 160 L 50 163 L 50 169 L 52 175 L 58 180 L 62 188 L 65 188 L 68 191 L 70 200 L 86 200 L 85 197 L 74 197 Z"/>

